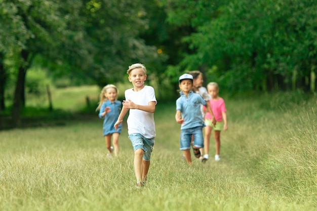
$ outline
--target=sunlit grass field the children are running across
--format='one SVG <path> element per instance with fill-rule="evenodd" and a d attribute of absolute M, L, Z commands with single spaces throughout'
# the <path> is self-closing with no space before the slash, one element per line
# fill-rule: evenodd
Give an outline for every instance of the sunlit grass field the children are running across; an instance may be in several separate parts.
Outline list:
<path fill-rule="evenodd" d="M 181 159 L 175 103 L 158 102 L 142 189 L 135 188 L 126 123 L 114 158 L 106 157 L 97 114 L 0 131 L 0 210 L 317 210 L 317 99 L 224 99 L 229 129 L 221 133 L 221 160 L 192 156 L 192 166 Z"/>

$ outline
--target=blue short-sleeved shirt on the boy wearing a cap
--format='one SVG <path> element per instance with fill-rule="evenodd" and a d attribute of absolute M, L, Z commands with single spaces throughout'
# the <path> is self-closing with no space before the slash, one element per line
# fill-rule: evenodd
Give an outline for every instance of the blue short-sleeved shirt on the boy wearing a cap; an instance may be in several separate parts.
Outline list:
<path fill-rule="evenodd" d="M 179 92 L 180 97 L 176 100 L 176 110 L 180 110 L 184 122 L 181 124 L 182 129 L 195 128 L 196 126 L 206 126 L 201 112 L 201 104 L 207 105 L 206 101 L 199 94 L 189 92 L 188 97 Z"/>

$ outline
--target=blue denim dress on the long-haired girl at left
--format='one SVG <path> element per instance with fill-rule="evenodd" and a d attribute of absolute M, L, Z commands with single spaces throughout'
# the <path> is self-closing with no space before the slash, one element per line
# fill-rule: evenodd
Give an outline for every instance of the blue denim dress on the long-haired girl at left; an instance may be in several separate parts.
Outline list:
<path fill-rule="evenodd" d="M 104 112 L 104 109 L 106 107 L 109 107 L 110 111 L 106 113 L 104 117 L 102 117 L 101 114 Z M 103 120 L 103 135 L 104 136 L 108 134 L 113 134 L 113 133 L 119 133 L 119 134 L 121 133 L 122 123 L 118 126 L 117 131 L 113 128 L 113 125 L 118 119 L 120 112 L 121 112 L 121 102 L 118 100 L 115 100 L 113 103 L 107 100 L 101 104 L 101 107 L 99 110 L 99 117 L 104 119 Z"/>

